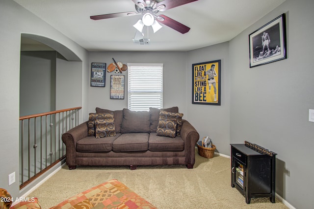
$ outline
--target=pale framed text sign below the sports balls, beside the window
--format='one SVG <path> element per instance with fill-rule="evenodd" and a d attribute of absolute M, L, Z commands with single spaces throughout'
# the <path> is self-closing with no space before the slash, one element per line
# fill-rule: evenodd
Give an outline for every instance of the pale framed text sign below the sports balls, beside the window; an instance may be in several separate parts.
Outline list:
<path fill-rule="evenodd" d="M 124 99 L 125 76 L 110 76 L 110 99 Z"/>

